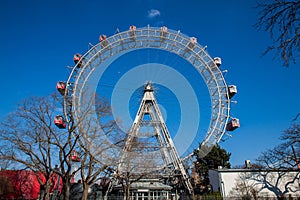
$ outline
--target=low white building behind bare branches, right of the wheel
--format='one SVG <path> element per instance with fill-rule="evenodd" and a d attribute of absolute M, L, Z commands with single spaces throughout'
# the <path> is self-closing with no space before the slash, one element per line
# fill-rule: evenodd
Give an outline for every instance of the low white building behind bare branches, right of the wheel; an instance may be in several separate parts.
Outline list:
<path fill-rule="evenodd" d="M 296 170 L 218 169 L 209 171 L 209 179 L 212 190 L 220 191 L 224 199 L 300 198 L 300 171 Z"/>

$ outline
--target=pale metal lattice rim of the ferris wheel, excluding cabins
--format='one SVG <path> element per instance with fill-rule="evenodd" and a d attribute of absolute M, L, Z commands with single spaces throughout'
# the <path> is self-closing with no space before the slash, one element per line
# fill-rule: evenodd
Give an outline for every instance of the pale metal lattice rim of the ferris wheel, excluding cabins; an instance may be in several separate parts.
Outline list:
<path fill-rule="evenodd" d="M 212 107 L 209 128 L 202 145 L 204 148 L 209 148 L 218 143 L 226 131 L 226 124 L 230 118 L 230 99 L 227 95 L 228 87 L 222 72 L 215 65 L 205 48 L 197 42 L 190 45 L 192 37 L 182 34 L 180 31 L 170 29 L 168 29 L 165 36 L 162 36 L 161 33 L 161 27 L 147 26 L 136 28 L 134 36 L 132 36 L 132 31 L 130 30 L 119 32 L 107 37 L 107 44 L 105 46 L 102 41 L 89 49 L 82 56 L 85 59 L 84 66 L 79 68 L 78 64 L 75 65 L 66 84 L 68 92 L 64 98 L 64 113 L 67 121 L 71 121 L 70 112 L 74 109 L 70 108 L 70 100 L 72 101 L 72 106 L 74 106 L 73 102 L 77 101 L 76 94 L 82 94 L 82 91 L 79 93 L 76 91 L 78 85 L 81 84 L 79 83 L 80 78 L 85 77 L 82 84 L 85 85 L 93 70 L 101 66 L 103 62 L 108 62 L 106 65 L 109 65 L 108 59 L 113 58 L 113 56 L 116 57 L 118 55 L 117 59 L 121 54 L 123 55 L 133 50 L 146 48 L 161 49 L 183 58 L 201 74 L 208 88 Z M 107 53 L 108 51 L 110 53 Z M 114 60 L 112 59 L 112 61 Z M 94 63 L 96 61 L 98 62 L 97 64 Z M 86 74 L 86 72 L 89 73 Z"/>

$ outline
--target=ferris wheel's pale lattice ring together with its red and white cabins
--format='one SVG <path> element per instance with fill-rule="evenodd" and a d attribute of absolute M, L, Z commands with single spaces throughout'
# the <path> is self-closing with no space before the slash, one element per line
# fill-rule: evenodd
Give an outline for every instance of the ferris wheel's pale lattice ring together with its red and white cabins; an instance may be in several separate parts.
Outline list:
<path fill-rule="evenodd" d="M 64 118 L 66 123 L 70 126 L 81 121 L 83 115 L 91 116 L 85 111 L 87 106 L 95 104 L 95 100 L 93 98 L 87 99 L 87 97 L 94 96 L 97 93 L 98 83 L 109 66 L 124 55 L 142 50 L 168 52 L 189 63 L 189 66 L 201 75 L 208 89 L 211 110 L 205 137 L 202 141 L 198 141 L 201 143 L 198 149 L 200 156 L 204 157 L 215 144 L 220 142 L 227 131 L 233 131 L 239 127 L 239 120 L 230 116 L 231 98 L 237 93 L 237 89 L 235 85 L 226 84 L 223 72 L 219 68 L 221 59 L 219 57 L 212 58 L 207 53 L 206 48 L 197 43 L 195 37 L 189 37 L 181 31 L 171 30 L 167 27 L 150 26 L 143 28 L 130 26 L 129 30 L 117 32 L 109 37 L 101 35 L 99 43 L 91 46 L 85 54 L 74 55 L 75 66 L 71 68 L 67 82 L 57 84 L 57 89 L 64 95 Z M 173 73 L 163 63 L 150 64 L 146 61 L 143 66 L 154 70 L 158 66 Z M 174 72 L 174 74 L 176 73 Z M 124 77 L 120 79 L 124 80 Z M 180 76 L 176 75 L 175 77 L 178 80 L 180 79 L 178 78 Z M 132 76 L 130 78 L 132 79 Z M 144 80 L 144 82 L 147 81 L 157 82 L 157 80 Z M 121 80 L 118 83 L 118 86 L 124 86 L 122 84 L 124 82 Z M 159 82 L 159 84 L 172 87 L 164 82 Z M 181 86 L 177 85 L 176 87 L 180 88 Z M 132 93 L 128 92 L 127 96 L 132 95 Z M 60 128 L 66 127 L 63 125 L 64 121 L 62 119 L 57 121 L 56 124 Z M 190 156 L 191 154 L 181 159 L 184 160 Z"/>

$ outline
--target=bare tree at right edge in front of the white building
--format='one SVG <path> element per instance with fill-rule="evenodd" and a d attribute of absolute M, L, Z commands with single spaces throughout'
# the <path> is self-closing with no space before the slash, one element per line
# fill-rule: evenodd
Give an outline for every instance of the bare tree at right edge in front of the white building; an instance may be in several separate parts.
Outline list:
<path fill-rule="evenodd" d="M 256 178 L 257 180 L 264 180 L 262 181 L 263 187 L 273 191 L 278 198 L 282 198 L 290 192 L 299 191 L 299 186 L 296 189 L 292 188 L 299 181 L 300 124 L 294 123 L 283 132 L 280 139 L 282 140 L 281 144 L 262 152 L 257 158 L 258 164 L 276 175 L 276 179 L 267 180 L 267 177 L 270 176 L 268 175 L 269 172 L 261 173 L 261 177 Z M 279 182 L 283 182 L 284 185 L 279 186 Z"/>

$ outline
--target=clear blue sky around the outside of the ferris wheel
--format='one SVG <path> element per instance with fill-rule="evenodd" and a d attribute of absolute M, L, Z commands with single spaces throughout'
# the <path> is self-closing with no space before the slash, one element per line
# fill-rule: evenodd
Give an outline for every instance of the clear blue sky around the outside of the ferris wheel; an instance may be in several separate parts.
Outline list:
<path fill-rule="evenodd" d="M 24 98 L 54 92 L 56 82 L 68 78 L 73 54 L 86 52 L 100 34 L 165 25 L 222 57 L 227 83 L 238 86 L 231 113 L 241 127 L 221 146 L 233 165 L 254 160 L 280 142 L 300 112 L 299 62 L 284 68 L 274 55 L 261 57 L 271 41 L 253 28 L 254 6 L 254 0 L 1 1 L 0 117 Z"/>

